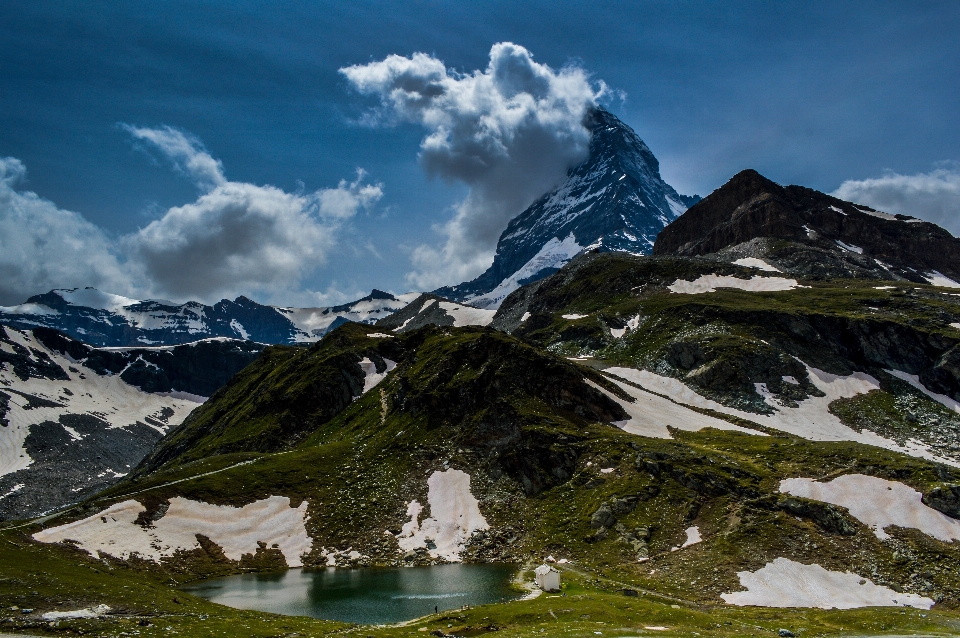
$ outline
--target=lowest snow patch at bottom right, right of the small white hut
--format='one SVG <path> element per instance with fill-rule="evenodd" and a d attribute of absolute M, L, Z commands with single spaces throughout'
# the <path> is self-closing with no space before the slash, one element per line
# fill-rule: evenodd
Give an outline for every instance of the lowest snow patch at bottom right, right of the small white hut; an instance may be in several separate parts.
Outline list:
<path fill-rule="evenodd" d="M 816 563 L 804 565 L 788 558 L 777 558 L 755 572 L 737 575 L 747 591 L 720 597 L 741 607 L 933 607 L 933 600 L 925 596 L 901 594 L 853 572 L 832 572 Z"/>

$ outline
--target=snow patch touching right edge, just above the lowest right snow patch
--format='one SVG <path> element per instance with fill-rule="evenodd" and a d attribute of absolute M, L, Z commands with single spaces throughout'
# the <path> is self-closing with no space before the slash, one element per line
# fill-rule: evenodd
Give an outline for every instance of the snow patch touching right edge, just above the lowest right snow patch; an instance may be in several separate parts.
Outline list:
<path fill-rule="evenodd" d="M 890 538 L 884 528 L 897 525 L 945 542 L 960 540 L 960 521 L 927 507 L 920 492 L 897 481 L 864 474 L 847 474 L 827 483 L 792 478 L 780 481 L 780 491 L 846 507 L 880 539 Z"/>

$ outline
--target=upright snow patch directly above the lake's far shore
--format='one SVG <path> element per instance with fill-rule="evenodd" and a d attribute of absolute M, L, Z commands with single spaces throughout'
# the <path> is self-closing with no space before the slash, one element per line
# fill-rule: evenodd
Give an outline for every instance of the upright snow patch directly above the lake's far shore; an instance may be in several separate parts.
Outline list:
<path fill-rule="evenodd" d="M 420 521 L 423 506 L 410 501 L 397 543 L 405 551 L 425 547 L 434 558 L 459 561 L 470 536 L 488 529 L 476 497 L 470 493 L 470 475 L 460 470 L 434 472 L 427 479 L 430 518 Z"/>

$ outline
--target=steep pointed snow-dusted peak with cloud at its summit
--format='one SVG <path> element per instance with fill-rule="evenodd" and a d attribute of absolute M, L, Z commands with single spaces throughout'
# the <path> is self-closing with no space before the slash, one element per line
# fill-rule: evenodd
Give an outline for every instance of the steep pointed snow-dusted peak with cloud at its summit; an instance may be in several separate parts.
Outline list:
<path fill-rule="evenodd" d="M 437 295 L 497 308 L 584 250 L 649 254 L 663 227 L 699 201 L 663 181 L 657 158 L 615 115 L 596 108 L 585 125 L 592 133 L 587 160 L 511 220 L 485 273 Z"/>

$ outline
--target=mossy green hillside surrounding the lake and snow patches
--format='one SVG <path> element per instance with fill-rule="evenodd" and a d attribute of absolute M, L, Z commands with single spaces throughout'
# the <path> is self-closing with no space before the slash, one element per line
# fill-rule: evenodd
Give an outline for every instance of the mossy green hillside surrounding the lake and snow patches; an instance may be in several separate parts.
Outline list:
<path fill-rule="evenodd" d="M 408 532 L 419 519 L 410 508 L 416 501 L 422 519 L 439 517 L 445 505 L 430 481 L 456 471 L 468 475 L 466 500 L 475 499 L 484 521 L 467 530 L 458 558 L 526 568 L 547 556 L 565 559 L 566 596 L 359 635 L 953 631 L 960 542 L 908 520 L 873 528 L 848 506 L 783 491 L 782 481 L 855 475 L 916 490 L 931 508 L 952 512 L 960 415 L 944 401 L 960 396 L 952 354 L 960 331 L 950 325 L 960 321 L 957 298 L 931 286 L 857 279 L 801 279 L 779 292 L 670 289 L 704 275 L 761 274 L 786 277 L 708 258 L 588 255 L 508 298 L 495 323 L 502 330 L 388 334 L 347 324 L 308 349 L 268 348 L 120 484 L 2 534 L 0 551 L 15 567 L 0 580 L 0 598 L 33 609 L 10 626 L 53 632 L 61 628 L 36 621 L 38 614 L 109 604 L 123 618 L 149 615 L 142 635 L 166 626 L 212 635 L 202 623 L 214 618 L 215 632 L 230 623 L 246 623 L 248 635 L 349 631 L 225 610 L 169 589 L 283 568 L 290 561 L 274 546 L 232 560 L 198 536 L 196 547 L 158 561 L 103 550 L 96 559 L 74 546 L 82 543 L 40 544 L 31 535 L 130 500 L 143 508 L 136 526 L 149 531 L 184 499 L 240 508 L 279 496 L 305 507 L 306 567 L 430 564 L 447 558 L 435 538 L 414 546 Z M 605 372 L 613 366 L 680 381 L 689 392 L 658 393 Z M 789 434 L 765 421 L 825 396 L 815 369 L 830 379 L 860 373 L 863 383 L 872 375 L 873 390 L 831 399 L 823 414 L 903 450 L 863 437 Z M 668 407 L 674 425 L 657 436 L 631 433 L 644 425 L 638 414 L 656 419 L 642 412 L 647 405 Z M 697 425 L 703 419 L 713 427 Z M 725 602 L 723 595 L 745 589 L 742 573 L 780 559 L 849 572 L 936 605 L 827 612 Z M 88 571 L 93 587 L 81 585 Z M 135 591 L 116 586 L 127 579 Z M 126 622 L 63 627 L 107 634 L 132 629 Z M 652 626 L 668 629 L 643 629 Z"/>

